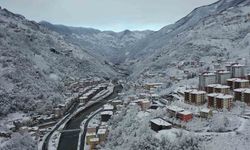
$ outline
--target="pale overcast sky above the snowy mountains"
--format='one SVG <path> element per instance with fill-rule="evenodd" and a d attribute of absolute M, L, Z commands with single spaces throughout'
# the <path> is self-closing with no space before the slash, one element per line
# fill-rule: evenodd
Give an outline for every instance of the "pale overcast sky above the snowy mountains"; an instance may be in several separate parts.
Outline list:
<path fill-rule="evenodd" d="M 217 0 L 0 0 L 35 21 L 121 31 L 158 30 Z"/>

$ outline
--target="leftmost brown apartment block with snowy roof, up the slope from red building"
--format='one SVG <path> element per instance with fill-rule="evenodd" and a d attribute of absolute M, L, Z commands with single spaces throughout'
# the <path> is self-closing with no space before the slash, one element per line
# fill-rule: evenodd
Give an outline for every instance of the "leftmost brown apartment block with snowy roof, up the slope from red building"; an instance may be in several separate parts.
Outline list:
<path fill-rule="evenodd" d="M 205 96 L 206 96 L 205 91 L 198 91 L 196 89 L 187 90 L 185 91 L 184 101 L 190 104 L 202 105 L 206 102 Z"/>

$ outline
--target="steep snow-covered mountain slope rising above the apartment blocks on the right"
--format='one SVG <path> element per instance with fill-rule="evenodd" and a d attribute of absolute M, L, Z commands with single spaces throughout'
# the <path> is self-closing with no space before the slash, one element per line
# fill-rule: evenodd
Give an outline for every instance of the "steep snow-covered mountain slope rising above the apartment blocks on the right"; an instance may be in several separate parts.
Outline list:
<path fill-rule="evenodd" d="M 145 70 L 166 70 L 180 61 L 247 60 L 249 29 L 250 1 L 220 0 L 193 10 L 129 47 L 128 59 L 136 62 L 131 70 L 136 75 Z"/>

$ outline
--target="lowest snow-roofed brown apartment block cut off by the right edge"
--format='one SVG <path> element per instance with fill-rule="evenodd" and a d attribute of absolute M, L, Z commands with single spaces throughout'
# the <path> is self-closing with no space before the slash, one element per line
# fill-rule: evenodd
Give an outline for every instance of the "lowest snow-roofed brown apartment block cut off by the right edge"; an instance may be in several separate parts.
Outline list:
<path fill-rule="evenodd" d="M 236 101 L 241 101 L 250 105 L 250 89 L 249 88 L 240 88 L 234 90 L 234 99 Z"/>

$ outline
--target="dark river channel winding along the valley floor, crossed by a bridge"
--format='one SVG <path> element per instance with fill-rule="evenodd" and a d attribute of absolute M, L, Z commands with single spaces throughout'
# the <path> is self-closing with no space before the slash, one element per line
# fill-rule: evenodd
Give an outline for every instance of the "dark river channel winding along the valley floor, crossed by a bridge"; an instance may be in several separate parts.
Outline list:
<path fill-rule="evenodd" d="M 79 129 L 81 122 L 84 119 L 87 119 L 87 117 L 92 113 L 95 112 L 96 110 L 98 110 L 99 108 L 101 108 L 104 104 L 107 103 L 108 100 L 113 99 L 115 97 L 117 97 L 117 94 L 122 90 L 122 86 L 121 85 L 117 85 L 114 88 L 114 92 L 106 97 L 105 99 L 101 100 L 100 102 L 95 103 L 92 106 L 87 107 L 86 109 L 84 109 L 84 111 L 82 111 L 81 113 L 79 113 L 78 115 L 76 115 L 74 118 L 72 118 L 65 126 L 65 130 L 71 130 L 71 129 Z M 60 142 L 58 145 L 58 150 L 77 150 L 77 145 L 78 145 L 78 138 L 79 138 L 79 132 L 66 132 L 66 133 L 62 133 L 61 137 L 60 137 Z M 84 133 L 86 133 L 86 131 L 84 131 Z M 85 135 L 85 134 L 83 134 Z M 81 141 L 84 141 L 85 137 L 81 137 Z M 81 150 L 84 149 L 83 147 L 84 145 L 81 145 Z"/>

